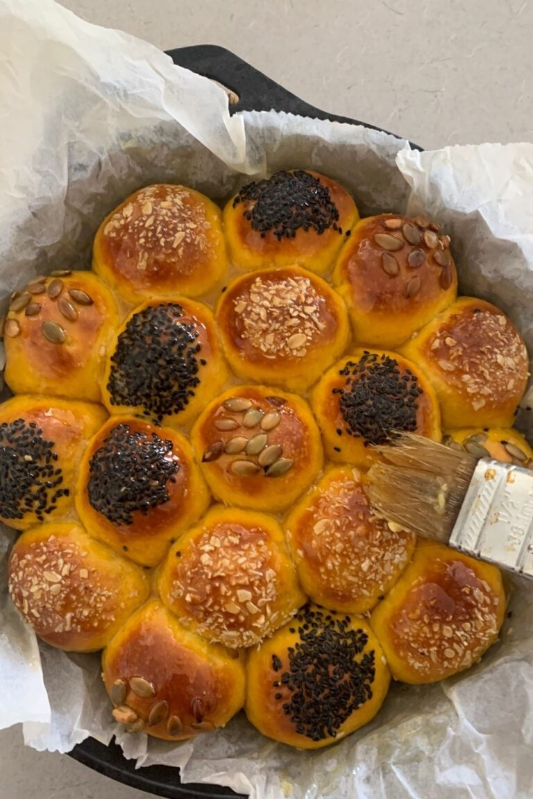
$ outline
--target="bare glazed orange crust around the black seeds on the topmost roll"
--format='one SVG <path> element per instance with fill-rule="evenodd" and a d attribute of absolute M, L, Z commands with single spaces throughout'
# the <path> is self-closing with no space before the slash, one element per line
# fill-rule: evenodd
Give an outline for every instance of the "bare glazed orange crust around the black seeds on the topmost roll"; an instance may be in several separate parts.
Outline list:
<path fill-rule="evenodd" d="M 331 200 L 339 212 L 338 225 L 342 233 L 331 226 L 320 234 L 315 229 L 300 228 L 291 238 L 278 240 L 272 230 L 261 237 L 261 232 L 254 230 L 252 222 L 245 217 L 245 211 L 253 207 L 253 203 L 240 202 L 234 205 L 237 194 L 224 209 L 229 256 L 237 268 L 249 270 L 267 266 L 304 266 L 311 272 L 323 275 L 332 265 L 346 232 L 359 215 L 352 197 L 339 183 L 311 169 L 304 171 L 318 178 L 329 189 Z"/>

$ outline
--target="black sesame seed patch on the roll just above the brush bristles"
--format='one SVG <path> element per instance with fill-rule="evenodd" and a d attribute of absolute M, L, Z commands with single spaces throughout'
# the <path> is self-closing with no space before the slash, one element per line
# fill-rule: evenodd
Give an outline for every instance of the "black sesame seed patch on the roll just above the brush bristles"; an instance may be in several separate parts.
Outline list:
<path fill-rule="evenodd" d="M 348 435 L 364 439 L 368 447 L 386 443 L 392 431 L 416 430 L 417 398 L 423 391 L 410 370 L 402 374 L 393 358 L 364 352 L 339 374 L 346 377 L 346 388 L 334 388 L 332 393 L 340 394 Z"/>

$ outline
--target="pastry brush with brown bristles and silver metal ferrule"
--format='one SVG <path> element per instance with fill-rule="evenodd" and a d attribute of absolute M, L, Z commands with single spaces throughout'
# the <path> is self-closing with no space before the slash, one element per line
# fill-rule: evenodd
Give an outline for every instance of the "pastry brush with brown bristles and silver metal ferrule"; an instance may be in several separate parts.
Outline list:
<path fill-rule="evenodd" d="M 413 433 L 376 448 L 368 496 L 380 516 L 533 578 L 533 471 Z"/>

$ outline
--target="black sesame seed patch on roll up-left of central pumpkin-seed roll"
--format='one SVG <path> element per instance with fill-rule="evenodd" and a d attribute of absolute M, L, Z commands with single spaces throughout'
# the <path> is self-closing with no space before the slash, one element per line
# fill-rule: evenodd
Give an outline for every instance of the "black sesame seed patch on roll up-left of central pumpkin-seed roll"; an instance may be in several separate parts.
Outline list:
<path fill-rule="evenodd" d="M 195 324 L 181 322 L 181 305 L 150 305 L 134 314 L 118 336 L 107 390 L 113 405 L 142 408 L 161 423 L 183 411 L 200 383 Z M 201 359 L 201 365 L 205 366 Z"/>

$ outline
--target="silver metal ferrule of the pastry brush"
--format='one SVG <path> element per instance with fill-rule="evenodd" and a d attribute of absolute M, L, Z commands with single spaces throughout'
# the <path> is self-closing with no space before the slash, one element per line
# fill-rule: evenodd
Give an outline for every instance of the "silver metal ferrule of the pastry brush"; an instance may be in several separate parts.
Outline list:
<path fill-rule="evenodd" d="M 480 460 L 450 546 L 533 578 L 533 471 Z"/>

